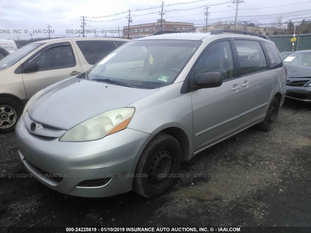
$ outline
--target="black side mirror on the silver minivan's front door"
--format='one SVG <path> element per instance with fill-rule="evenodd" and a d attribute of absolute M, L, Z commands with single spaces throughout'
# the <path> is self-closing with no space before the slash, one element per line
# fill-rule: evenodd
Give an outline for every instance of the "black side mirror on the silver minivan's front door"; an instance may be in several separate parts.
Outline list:
<path fill-rule="evenodd" d="M 217 87 L 223 84 L 223 78 L 219 72 L 203 73 L 198 76 L 195 84 L 197 89 Z"/>

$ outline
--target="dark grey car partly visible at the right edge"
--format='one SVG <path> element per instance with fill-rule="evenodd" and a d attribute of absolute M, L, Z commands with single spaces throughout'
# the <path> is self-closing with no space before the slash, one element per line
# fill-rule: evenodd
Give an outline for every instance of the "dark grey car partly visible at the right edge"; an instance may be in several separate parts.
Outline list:
<path fill-rule="evenodd" d="M 286 97 L 311 102 L 311 50 L 296 51 L 284 59 Z"/>

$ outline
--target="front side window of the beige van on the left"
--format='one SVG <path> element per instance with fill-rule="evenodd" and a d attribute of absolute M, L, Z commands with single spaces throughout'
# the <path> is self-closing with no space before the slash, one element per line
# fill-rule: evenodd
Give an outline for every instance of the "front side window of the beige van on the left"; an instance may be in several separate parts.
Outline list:
<path fill-rule="evenodd" d="M 53 46 L 41 52 L 29 63 L 38 64 L 37 71 L 63 69 L 76 65 L 70 45 Z"/>

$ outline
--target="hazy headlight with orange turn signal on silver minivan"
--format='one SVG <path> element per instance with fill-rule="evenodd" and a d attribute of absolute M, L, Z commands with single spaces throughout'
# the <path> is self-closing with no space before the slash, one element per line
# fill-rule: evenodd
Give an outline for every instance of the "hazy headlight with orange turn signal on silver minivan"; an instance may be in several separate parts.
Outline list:
<path fill-rule="evenodd" d="M 94 116 L 71 128 L 59 139 L 65 142 L 85 142 L 101 139 L 124 130 L 130 123 L 135 108 L 119 108 Z"/>

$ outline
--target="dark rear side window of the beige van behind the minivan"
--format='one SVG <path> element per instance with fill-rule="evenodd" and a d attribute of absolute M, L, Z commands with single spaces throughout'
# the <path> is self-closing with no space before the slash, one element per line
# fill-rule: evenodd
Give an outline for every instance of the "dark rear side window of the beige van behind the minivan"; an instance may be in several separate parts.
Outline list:
<path fill-rule="evenodd" d="M 90 65 L 95 65 L 108 53 L 117 49 L 112 40 L 83 40 L 76 43 Z"/>

